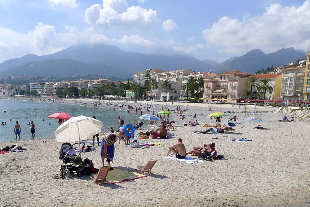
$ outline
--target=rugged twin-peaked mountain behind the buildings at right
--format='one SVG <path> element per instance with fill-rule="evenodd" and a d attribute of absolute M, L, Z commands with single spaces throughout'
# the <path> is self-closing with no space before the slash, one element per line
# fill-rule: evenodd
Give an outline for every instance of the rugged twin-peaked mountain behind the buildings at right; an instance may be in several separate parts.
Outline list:
<path fill-rule="evenodd" d="M 296 51 L 293 47 L 286 49 L 282 48 L 277 52 L 269 54 L 265 54 L 263 51 L 255 49 L 240 57 L 232 57 L 225 60 L 218 65 L 217 72 L 223 73 L 232 70 L 240 70 L 255 73 L 261 68 L 267 68 L 271 65 L 279 66 L 281 64 L 287 64 L 298 59 L 304 59 L 305 56 L 305 52 Z"/>

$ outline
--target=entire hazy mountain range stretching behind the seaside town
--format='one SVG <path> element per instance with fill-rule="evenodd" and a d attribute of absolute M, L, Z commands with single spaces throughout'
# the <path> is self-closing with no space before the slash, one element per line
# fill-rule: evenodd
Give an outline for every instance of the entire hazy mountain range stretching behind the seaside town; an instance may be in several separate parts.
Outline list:
<path fill-rule="evenodd" d="M 206 59 L 201 61 L 188 55 L 158 55 L 123 51 L 107 44 L 82 44 L 62 51 L 38 56 L 24 55 L 0 64 L 0 77 L 11 75 L 72 77 L 81 74 L 132 77 L 134 72 L 147 68 L 176 70 L 191 68 L 195 71 L 223 73 L 231 70 L 255 73 L 258 69 L 278 66 L 304 59 L 304 51 L 281 49 L 265 54 L 258 49 L 235 56 L 222 63 Z"/>

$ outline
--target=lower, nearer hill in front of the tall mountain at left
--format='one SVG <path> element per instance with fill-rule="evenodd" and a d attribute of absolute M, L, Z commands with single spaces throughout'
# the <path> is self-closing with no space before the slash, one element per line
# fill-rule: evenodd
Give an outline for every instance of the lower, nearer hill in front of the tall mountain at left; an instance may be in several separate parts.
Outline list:
<path fill-rule="evenodd" d="M 73 59 L 50 59 L 40 62 L 31 61 L 20 66 L 6 69 L 0 73 L 0 77 L 12 75 L 25 75 L 30 77 L 72 77 L 81 74 L 109 74 L 109 76 L 117 77 L 119 73 L 127 74 L 125 71 L 102 64 L 88 64 Z"/>

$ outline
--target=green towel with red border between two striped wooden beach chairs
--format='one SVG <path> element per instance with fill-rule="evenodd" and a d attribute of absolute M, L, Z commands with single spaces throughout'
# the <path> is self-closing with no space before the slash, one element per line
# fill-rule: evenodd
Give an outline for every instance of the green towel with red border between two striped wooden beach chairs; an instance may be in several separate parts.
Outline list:
<path fill-rule="evenodd" d="M 115 167 L 113 167 L 113 169 L 114 170 L 110 170 L 107 175 L 106 182 L 108 183 L 121 183 L 127 180 L 134 180 L 147 177 L 147 175 L 139 174 L 137 172 L 121 170 Z M 91 176 L 93 175 L 97 175 L 97 173 L 91 174 Z"/>

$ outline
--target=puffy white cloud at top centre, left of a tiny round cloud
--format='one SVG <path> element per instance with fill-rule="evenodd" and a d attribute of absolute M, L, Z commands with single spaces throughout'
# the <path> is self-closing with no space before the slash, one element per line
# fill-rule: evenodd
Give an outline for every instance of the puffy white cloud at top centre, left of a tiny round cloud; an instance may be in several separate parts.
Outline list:
<path fill-rule="evenodd" d="M 88 24 L 113 26 L 141 27 L 158 22 L 157 11 L 139 6 L 128 7 L 125 0 L 103 0 L 103 7 L 94 4 L 85 10 Z"/>

